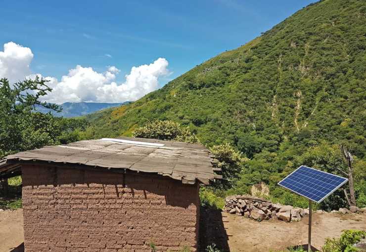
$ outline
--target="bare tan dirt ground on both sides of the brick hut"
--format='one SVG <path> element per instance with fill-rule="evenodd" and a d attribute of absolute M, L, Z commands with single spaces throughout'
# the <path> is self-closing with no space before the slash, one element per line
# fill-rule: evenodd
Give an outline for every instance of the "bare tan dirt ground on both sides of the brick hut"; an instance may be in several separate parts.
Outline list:
<path fill-rule="evenodd" d="M 257 222 L 235 214 L 223 215 L 230 252 L 278 251 L 308 242 L 307 217 L 288 223 L 279 220 Z M 320 249 L 326 237 L 339 237 L 344 229 L 366 230 L 366 213 L 313 213 L 312 228 L 312 244 Z M 0 211 L 0 252 L 14 251 L 23 239 L 22 210 Z"/>

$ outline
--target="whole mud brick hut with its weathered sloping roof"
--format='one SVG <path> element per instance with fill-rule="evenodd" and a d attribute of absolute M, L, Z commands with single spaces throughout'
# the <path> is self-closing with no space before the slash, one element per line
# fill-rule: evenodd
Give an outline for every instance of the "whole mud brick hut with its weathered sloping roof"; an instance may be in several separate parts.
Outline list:
<path fill-rule="evenodd" d="M 220 177 L 201 145 L 127 137 L 0 161 L 20 169 L 26 252 L 197 251 L 199 183 Z"/>

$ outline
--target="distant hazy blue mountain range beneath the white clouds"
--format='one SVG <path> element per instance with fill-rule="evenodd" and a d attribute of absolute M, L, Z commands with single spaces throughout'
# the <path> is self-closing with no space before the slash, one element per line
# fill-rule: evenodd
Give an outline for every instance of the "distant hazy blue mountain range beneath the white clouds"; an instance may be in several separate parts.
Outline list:
<path fill-rule="evenodd" d="M 123 103 L 103 103 L 103 102 L 65 102 L 60 106 L 62 107 L 62 111 L 57 113 L 53 110 L 46 109 L 42 106 L 37 107 L 37 111 L 42 113 L 51 112 L 54 116 L 57 117 L 78 117 L 91 114 L 93 112 L 117 107 L 124 104 L 129 104 L 131 102 L 126 101 Z"/>

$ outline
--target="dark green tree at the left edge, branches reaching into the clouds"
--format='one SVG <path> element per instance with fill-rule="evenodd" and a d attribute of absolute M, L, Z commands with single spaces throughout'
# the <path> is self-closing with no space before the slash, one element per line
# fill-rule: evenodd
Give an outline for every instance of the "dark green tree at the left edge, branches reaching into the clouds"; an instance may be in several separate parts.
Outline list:
<path fill-rule="evenodd" d="M 33 139 L 40 145 L 50 142 L 45 132 L 40 128 L 30 130 L 30 126 L 40 123 L 34 116 L 35 106 L 60 110 L 55 104 L 39 100 L 51 90 L 46 82 L 38 77 L 13 85 L 10 85 L 7 79 L 0 80 L 0 156 L 27 149 L 25 138 Z"/>

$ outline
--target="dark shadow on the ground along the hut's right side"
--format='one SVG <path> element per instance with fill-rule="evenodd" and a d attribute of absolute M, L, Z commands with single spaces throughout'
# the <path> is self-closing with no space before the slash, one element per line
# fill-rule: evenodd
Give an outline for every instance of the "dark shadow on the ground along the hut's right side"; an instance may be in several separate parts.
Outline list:
<path fill-rule="evenodd" d="M 224 228 L 221 210 L 201 208 L 199 227 L 199 251 L 216 244 L 222 252 L 229 252 L 228 235 Z"/>

